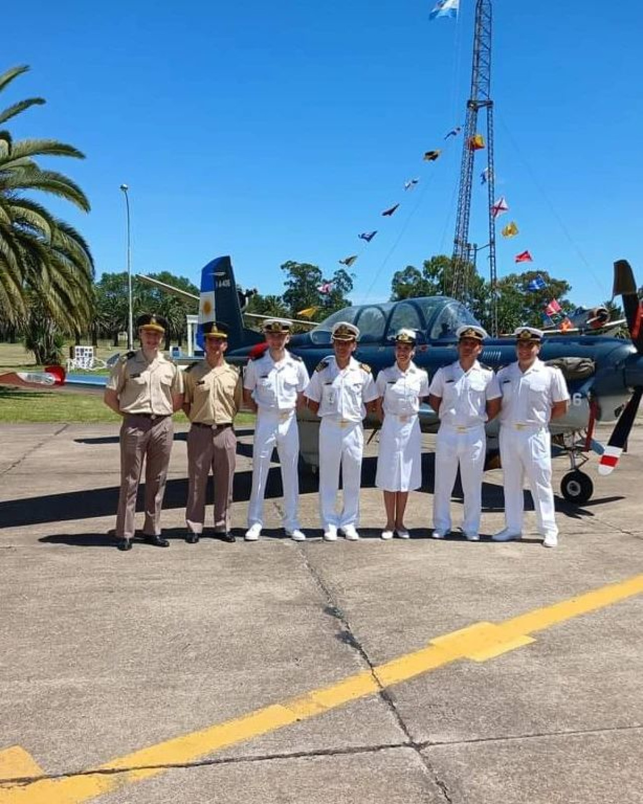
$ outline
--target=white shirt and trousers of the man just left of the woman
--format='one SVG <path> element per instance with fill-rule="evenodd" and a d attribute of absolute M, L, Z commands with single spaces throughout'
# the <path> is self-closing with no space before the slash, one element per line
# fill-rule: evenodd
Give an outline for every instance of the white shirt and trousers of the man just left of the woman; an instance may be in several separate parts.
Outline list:
<path fill-rule="evenodd" d="M 340 369 L 334 355 L 321 361 L 305 391 L 319 403 L 319 513 L 321 527 L 357 525 L 359 486 L 362 480 L 365 404 L 379 396 L 371 369 L 350 358 Z M 343 506 L 338 515 L 335 501 L 342 466 Z"/>

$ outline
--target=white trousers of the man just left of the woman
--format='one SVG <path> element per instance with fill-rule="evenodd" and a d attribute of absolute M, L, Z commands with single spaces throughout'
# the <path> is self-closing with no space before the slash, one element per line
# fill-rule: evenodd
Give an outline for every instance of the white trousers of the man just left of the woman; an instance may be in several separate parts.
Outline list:
<path fill-rule="evenodd" d="M 319 515 L 321 527 L 345 527 L 359 521 L 359 487 L 362 482 L 364 429 L 361 421 L 343 427 L 324 416 L 319 427 Z M 342 466 L 343 503 L 340 514 L 335 511 Z"/>

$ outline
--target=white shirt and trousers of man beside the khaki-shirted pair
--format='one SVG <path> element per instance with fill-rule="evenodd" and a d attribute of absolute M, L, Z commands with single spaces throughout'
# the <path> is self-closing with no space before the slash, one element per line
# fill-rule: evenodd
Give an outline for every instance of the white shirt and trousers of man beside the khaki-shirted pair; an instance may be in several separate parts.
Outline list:
<path fill-rule="evenodd" d="M 287 531 L 299 529 L 299 431 L 295 408 L 297 394 L 304 391 L 308 382 L 304 363 L 288 351 L 283 360 L 275 363 L 266 350 L 260 358 L 251 360 L 244 371 L 244 388 L 252 391 L 252 398 L 259 408 L 252 452 L 248 527 L 263 525 L 266 482 L 272 450 L 276 447 L 284 486 L 284 527 Z"/>

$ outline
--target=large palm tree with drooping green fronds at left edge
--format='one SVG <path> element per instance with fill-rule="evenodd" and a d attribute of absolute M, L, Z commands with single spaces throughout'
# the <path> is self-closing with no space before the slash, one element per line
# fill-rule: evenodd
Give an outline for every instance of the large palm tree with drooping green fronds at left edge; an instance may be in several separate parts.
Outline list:
<path fill-rule="evenodd" d="M 0 75 L 0 92 L 27 72 L 14 67 Z M 49 139 L 14 142 L 2 126 L 42 98 L 27 98 L 0 111 L 0 318 L 27 318 L 29 294 L 37 297 L 58 326 L 84 330 L 91 318 L 93 260 L 74 228 L 52 215 L 31 193 L 66 199 L 89 211 L 84 192 L 67 176 L 40 168 L 35 157 L 84 158 L 73 146 Z"/>

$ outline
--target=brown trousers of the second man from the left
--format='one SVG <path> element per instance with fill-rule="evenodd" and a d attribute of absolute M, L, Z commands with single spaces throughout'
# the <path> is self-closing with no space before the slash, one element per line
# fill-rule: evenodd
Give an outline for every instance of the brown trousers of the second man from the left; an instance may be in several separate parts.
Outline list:
<path fill-rule="evenodd" d="M 190 533 L 203 533 L 210 470 L 215 484 L 215 531 L 230 530 L 235 460 L 236 436 L 231 427 L 192 425 L 187 434 L 186 524 Z"/>

